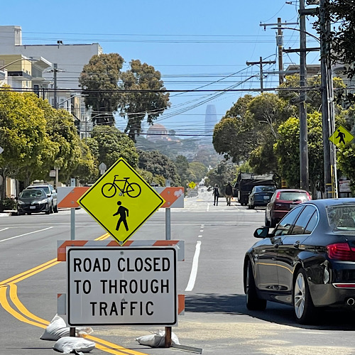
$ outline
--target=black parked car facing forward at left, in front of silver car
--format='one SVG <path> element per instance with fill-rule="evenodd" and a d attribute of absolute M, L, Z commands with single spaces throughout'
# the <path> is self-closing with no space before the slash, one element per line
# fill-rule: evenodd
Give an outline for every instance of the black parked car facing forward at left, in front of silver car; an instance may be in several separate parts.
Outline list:
<path fill-rule="evenodd" d="M 50 197 L 42 188 L 23 190 L 17 199 L 16 206 L 18 215 L 38 212 L 50 214 L 52 211 Z"/>

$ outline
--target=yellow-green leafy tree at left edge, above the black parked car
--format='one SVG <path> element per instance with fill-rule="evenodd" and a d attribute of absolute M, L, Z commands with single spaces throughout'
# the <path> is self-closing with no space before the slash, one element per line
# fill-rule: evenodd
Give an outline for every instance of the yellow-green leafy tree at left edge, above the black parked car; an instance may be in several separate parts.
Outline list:
<path fill-rule="evenodd" d="M 46 133 L 43 110 L 34 94 L 0 89 L 1 200 L 6 195 L 6 178 L 23 178 L 27 184 L 36 171 L 43 171 L 45 161 L 53 158 L 55 146 Z"/>

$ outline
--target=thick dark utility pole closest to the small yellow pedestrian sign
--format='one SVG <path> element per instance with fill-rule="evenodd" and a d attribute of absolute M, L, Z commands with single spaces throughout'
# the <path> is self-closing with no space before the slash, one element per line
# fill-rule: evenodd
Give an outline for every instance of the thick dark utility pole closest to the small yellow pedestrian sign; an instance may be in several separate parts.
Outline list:
<path fill-rule="evenodd" d="M 338 197 L 337 189 L 337 158 L 335 147 L 329 136 L 335 131 L 332 65 L 329 60 L 330 45 L 327 38 L 330 23 L 325 14 L 327 0 L 320 0 L 320 65 L 322 80 L 322 125 L 324 154 L 324 188 L 325 197 Z"/>

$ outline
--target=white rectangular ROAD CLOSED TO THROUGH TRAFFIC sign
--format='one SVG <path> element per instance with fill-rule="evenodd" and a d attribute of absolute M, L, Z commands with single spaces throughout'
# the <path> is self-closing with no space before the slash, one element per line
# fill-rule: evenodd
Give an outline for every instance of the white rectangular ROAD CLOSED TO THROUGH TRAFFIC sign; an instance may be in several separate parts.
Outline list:
<path fill-rule="evenodd" d="M 68 248 L 68 324 L 177 325 L 177 260 L 173 246 Z"/>

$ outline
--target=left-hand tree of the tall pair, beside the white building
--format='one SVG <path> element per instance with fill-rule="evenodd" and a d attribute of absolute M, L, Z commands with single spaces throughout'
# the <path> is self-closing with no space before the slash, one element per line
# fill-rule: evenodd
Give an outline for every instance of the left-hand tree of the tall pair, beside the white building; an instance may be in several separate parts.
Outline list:
<path fill-rule="evenodd" d="M 124 58 L 117 53 L 94 55 L 84 65 L 79 82 L 86 107 L 94 111 L 94 124 L 114 124 L 114 112 L 119 105 L 119 78 Z"/>

